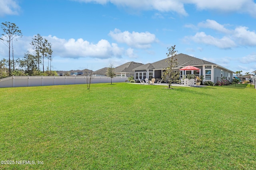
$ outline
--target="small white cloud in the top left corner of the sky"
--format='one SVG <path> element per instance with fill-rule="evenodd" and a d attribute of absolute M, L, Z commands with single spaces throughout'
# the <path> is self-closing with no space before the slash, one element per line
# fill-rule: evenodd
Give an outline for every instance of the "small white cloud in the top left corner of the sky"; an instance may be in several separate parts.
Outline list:
<path fill-rule="evenodd" d="M 15 0 L 0 0 L 0 16 L 17 15 L 20 6 Z"/>

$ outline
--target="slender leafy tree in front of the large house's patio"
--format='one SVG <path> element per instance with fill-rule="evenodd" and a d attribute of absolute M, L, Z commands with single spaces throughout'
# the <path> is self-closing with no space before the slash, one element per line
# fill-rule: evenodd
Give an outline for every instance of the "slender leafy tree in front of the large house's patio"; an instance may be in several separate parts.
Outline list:
<path fill-rule="evenodd" d="M 179 78 L 179 72 L 174 71 L 174 68 L 178 65 L 177 59 L 175 58 L 178 51 L 175 51 L 175 45 L 167 49 L 168 53 L 166 53 L 166 62 L 168 63 L 168 66 L 164 69 L 162 78 L 168 82 L 168 88 L 170 88 L 170 86 L 172 86 L 172 82 L 175 82 Z"/>

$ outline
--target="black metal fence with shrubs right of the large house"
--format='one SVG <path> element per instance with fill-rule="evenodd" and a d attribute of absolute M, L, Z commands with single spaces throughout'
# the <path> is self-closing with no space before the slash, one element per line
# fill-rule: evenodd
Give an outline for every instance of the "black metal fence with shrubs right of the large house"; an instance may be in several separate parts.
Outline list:
<path fill-rule="evenodd" d="M 238 78 L 218 77 L 215 85 L 234 86 L 234 87 L 241 87 L 241 88 L 255 88 L 256 79 L 254 77 L 248 78 L 248 80 L 243 80 L 243 81 L 241 81 Z"/>

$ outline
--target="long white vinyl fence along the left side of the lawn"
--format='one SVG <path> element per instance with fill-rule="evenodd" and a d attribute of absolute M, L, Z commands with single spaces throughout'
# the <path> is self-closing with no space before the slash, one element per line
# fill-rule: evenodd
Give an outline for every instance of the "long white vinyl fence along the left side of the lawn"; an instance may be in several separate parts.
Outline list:
<path fill-rule="evenodd" d="M 0 79 L 0 88 L 87 84 L 88 76 L 11 76 Z M 114 77 L 112 82 L 126 82 L 128 77 Z M 110 83 L 111 78 L 92 76 L 91 83 Z"/>

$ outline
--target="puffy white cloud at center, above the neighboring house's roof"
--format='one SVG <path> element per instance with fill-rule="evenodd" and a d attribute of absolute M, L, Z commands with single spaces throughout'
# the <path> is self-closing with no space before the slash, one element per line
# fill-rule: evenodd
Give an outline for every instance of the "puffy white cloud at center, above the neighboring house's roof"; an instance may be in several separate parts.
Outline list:
<path fill-rule="evenodd" d="M 157 41 L 156 36 L 149 32 L 138 33 L 133 31 L 130 33 L 129 31 L 121 32 L 119 29 L 114 29 L 108 35 L 118 43 L 126 43 L 129 47 L 142 49 L 150 48 L 151 43 Z"/>

